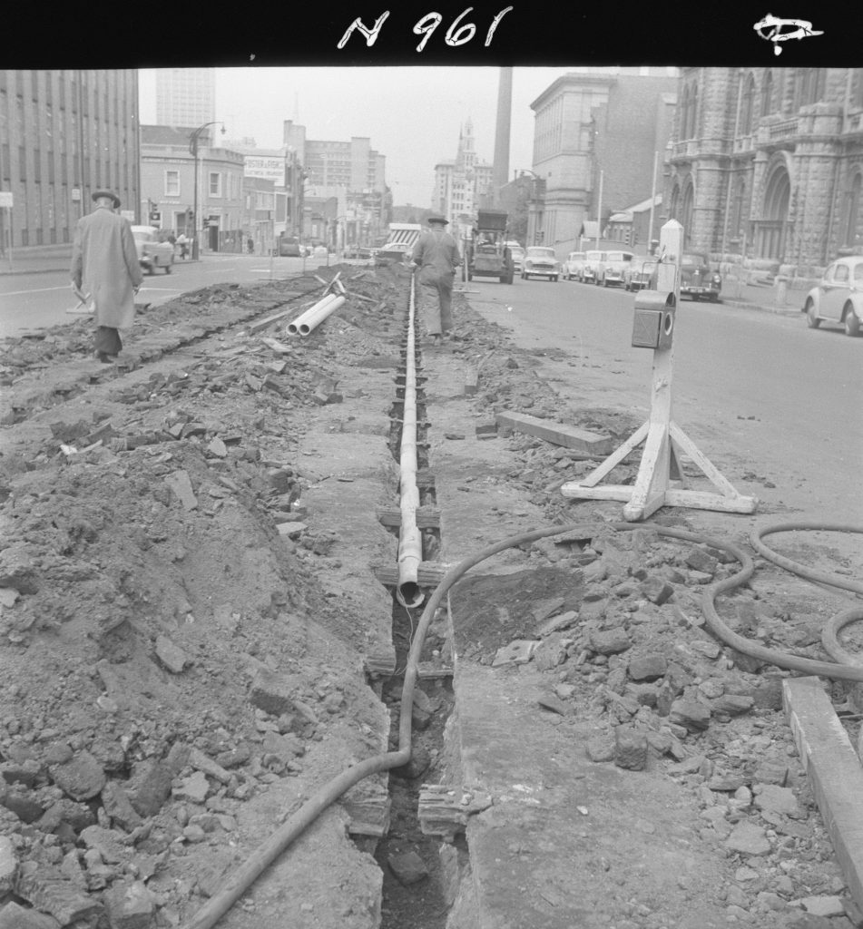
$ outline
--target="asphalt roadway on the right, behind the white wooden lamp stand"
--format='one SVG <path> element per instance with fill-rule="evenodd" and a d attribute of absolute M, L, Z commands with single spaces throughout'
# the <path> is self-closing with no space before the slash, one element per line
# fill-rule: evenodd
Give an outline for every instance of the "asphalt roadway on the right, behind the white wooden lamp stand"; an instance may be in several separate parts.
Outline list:
<path fill-rule="evenodd" d="M 459 286 L 538 359 L 569 359 L 549 363 L 562 396 L 647 420 L 654 353 L 632 347 L 634 294 L 575 281 Z M 684 300 L 673 421 L 739 492 L 763 499 L 762 509 L 863 523 L 861 357 L 863 338 L 807 329 L 802 314 Z M 740 484 L 744 474 L 757 479 Z"/>

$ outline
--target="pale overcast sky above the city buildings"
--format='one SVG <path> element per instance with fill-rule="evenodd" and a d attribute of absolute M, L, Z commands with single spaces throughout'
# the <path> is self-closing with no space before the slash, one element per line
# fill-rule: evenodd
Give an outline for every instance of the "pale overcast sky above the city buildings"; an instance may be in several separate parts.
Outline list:
<path fill-rule="evenodd" d="M 530 103 L 558 77 L 583 71 L 513 69 L 510 178 L 532 165 Z M 156 122 L 155 75 L 139 72 L 143 124 Z M 216 119 L 226 138 L 253 137 L 262 149 L 281 147 L 288 119 L 305 125 L 308 139 L 369 137 L 386 157 L 393 203 L 428 207 L 435 164 L 455 158 L 468 120 L 478 159 L 493 162 L 499 78 L 499 68 L 480 67 L 216 68 Z"/>

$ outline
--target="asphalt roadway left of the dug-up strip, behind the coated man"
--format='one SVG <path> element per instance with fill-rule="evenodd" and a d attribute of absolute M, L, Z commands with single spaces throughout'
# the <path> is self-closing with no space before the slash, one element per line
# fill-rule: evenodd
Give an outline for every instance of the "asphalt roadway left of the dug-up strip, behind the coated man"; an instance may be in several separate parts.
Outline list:
<path fill-rule="evenodd" d="M 334 261 L 334 258 L 331 258 Z M 307 258 L 306 268 L 318 268 L 326 259 Z M 270 274 L 293 274 L 304 267 L 303 258 L 269 258 L 263 255 L 204 255 L 200 261 L 177 260 L 170 274 L 159 269 L 145 275 L 137 303 L 159 306 L 184 291 L 216 283 L 250 283 Z M 0 338 L 38 332 L 74 319 L 66 309 L 77 299 L 70 289 L 68 271 L 0 276 Z"/>

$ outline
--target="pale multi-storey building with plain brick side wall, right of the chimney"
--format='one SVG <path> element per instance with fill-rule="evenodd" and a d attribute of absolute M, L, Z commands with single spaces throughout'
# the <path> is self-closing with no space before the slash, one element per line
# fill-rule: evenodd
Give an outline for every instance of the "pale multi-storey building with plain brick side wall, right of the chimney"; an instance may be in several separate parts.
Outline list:
<path fill-rule="evenodd" d="M 664 71 L 573 72 L 530 104 L 533 171 L 545 182 L 531 238 L 566 255 L 600 210 L 604 229 L 609 216 L 650 196 L 656 152 L 664 152 L 673 124 L 677 78 Z"/>

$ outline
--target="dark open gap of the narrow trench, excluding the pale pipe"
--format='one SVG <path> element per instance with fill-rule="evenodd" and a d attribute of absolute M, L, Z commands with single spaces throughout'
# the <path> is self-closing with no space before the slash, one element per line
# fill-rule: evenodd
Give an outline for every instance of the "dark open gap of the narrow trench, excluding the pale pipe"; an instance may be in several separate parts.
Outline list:
<path fill-rule="evenodd" d="M 415 407 L 416 407 L 416 467 L 418 499 L 424 517 L 417 520 L 422 538 L 422 559 L 434 561 L 440 548 L 439 521 L 434 517 L 437 504 L 434 479 L 428 467 L 428 422 L 425 405 L 425 376 L 422 371 L 422 350 L 418 340 L 411 337 L 411 297 L 405 314 L 405 343 L 401 351 L 401 365 L 396 378 L 396 399 L 390 410 L 389 450 L 399 461 L 399 450 L 405 420 L 406 374 L 408 351 L 414 352 Z M 409 398 L 414 399 L 413 392 Z M 410 427 L 410 426 L 409 426 Z M 412 476 L 408 479 L 413 479 Z M 403 490 L 403 488 L 399 488 Z M 398 535 L 398 530 L 396 530 Z M 395 672 L 382 687 L 382 700 L 390 712 L 390 749 L 399 744 L 399 702 L 404 685 L 404 670 L 412 647 L 417 622 L 423 603 L 411 607 L 400 602 L 393 593 L 392 637 L 395 648 Z M 422 662 L 427 667 L 451 664 L 449 654 L 446 608 L 438 609 L 438 616 L 425 636 Z M 412 756 L 411 761 L 390 772 L 389 794 L 391 801 L 390 828 L 377 844 L 375 859 L 384 875 L 381 906 L 381 929 L 444 929 L 451 908 L 454 888 L 451 880 L 451 847 L 442 844 L 438 836 L 425 835 L 419 819 L 422 785 L 437 783 L 443 768 L 443 732 L 453 703 L 451 680 L 447 674 L 420 675 L 413 698 Z"/>

